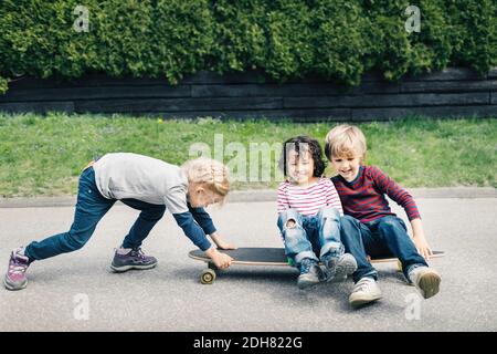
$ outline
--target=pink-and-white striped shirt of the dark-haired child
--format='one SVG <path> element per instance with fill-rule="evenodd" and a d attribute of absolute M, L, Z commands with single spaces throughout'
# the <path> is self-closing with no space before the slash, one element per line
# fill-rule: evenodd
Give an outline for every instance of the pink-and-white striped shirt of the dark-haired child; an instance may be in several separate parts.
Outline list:
<path fill-rule="evenodd" d="M 340 197 L 329 178 L 319 178 L 307 187 L 295 186 L 289 181 L 278 187 L 278 212 L 294 208 L 303 216 L 314 216 L 326 206 L 335 207 L 343 215 Z"/>

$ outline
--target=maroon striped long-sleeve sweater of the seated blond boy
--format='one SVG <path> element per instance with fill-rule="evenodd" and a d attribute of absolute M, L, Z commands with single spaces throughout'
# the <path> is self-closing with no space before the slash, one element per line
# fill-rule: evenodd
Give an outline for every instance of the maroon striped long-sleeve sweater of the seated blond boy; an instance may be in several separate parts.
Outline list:
<path fill-rule="evenodd" d="M 412 196 L 377 167 L 361 166 L 359 175 L 350 183 L 339 175 L 331 180 L 340 195 L 343 212 L 361 222 L 395 216 L 385 195 L 404 208 L 409 220 L 421 218 Z"/>

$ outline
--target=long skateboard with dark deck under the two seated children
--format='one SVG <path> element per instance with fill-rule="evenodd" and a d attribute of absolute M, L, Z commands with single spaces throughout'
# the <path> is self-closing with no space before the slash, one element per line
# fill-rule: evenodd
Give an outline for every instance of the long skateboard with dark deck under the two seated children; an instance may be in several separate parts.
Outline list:
<path fill-rule="evenodd" d="M 286 257 L 284 248 L 266 248 L 266 247 L 242 247 L 235 250 L 220 250 L 233 258 L 233 266 L 275 266 L 292 267 L 292 261 Z M 201 250 L 190 251 L 188 256 L 194 260 L 208 263 L 208 269 L 202 271 L 200 282 L 202 284 L 212 284 L 219 270 L 209 257 Z M 443 251 L 433 251 L 432 258 L 444 257 Z M 402 266 L 396 258 L 370 258 L 371 263 L 391 263 L 396 262 L 398 269 L 402 270 Z"/>

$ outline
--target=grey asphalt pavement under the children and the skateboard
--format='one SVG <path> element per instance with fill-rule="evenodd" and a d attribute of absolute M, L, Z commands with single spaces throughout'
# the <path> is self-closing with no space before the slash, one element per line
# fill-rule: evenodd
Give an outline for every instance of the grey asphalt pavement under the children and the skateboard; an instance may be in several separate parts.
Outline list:
<path fill-rule="evenodd" d="M 347 302 L 350 280 L 300 291 L 290 268 L 233 267 L 202 285 L 204 266 L 187 257 L 194 247 L 170 215 L 144 246 L 158 268 L 110 273 L 113 248 L 137 216 L 116 206 L 85 248 L 33 263 L 23 291 L 0 289 L 0 331 L 497 331 L 497 198 L 417 201 L 430 243 L 447 252 L 432 262 L 442 291 L 426 301 L 417 302 L 391 264 L 378 266 L 383 299 L 358 311 Z M 73 211 L 0 208 L 2 275 L 12 248 L 65 231 Z M 282 244 L 274 201 L 229 202 L 210 212 L 241 247 Z"/>

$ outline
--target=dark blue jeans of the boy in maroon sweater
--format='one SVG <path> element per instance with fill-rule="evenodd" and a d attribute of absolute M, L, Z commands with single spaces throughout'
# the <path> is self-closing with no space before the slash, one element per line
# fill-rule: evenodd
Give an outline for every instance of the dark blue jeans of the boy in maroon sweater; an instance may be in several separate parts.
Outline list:
<path fill-rule="evenodd" d="M 413 267 L 427 266 L 408 235 L 404 221 L 398 217 L 388 216 L 370 222 L 360 222 L 351 216 L 343 216 L 341 223 L 341 240 L 346 251 L 357 261 L 358 269 L 353 273 L 353 281 L 363 277 L 378 279 L 377 270 L 367 259 L 396 257 L 402 263 L 402 271 L 406 279 Z"/>

